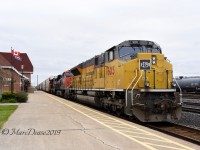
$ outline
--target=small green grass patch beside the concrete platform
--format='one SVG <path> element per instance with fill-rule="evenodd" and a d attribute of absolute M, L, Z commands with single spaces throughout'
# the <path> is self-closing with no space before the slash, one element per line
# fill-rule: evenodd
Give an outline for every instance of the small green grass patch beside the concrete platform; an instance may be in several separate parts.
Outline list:
<path fill-rule="evenodd" d="M 17 105 L 2 105 L 0 106 L 0 128 L 8 120 L 10 115 L 17 109 Z"/>

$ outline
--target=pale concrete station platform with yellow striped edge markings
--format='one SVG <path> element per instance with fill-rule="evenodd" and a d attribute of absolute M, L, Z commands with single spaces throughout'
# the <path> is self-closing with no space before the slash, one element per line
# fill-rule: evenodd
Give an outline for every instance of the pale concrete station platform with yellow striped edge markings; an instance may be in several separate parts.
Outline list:
<path fill-rule="evenodd" d="M 29 94 L 0 131 L 0 150 L 198 148 L 44 92 Z"/>

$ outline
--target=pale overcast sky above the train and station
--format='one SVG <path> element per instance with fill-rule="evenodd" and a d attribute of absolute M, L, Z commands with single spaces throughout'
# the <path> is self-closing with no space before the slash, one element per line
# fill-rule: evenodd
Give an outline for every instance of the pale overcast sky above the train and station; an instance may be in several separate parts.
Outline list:
<path fill-rule="evenodd" d="M 0 51 L 28 54 L 33 85 L 125 40 L 158 43 L 174 76 L 200 75 L 200 1 L 1 0 Z"/>

